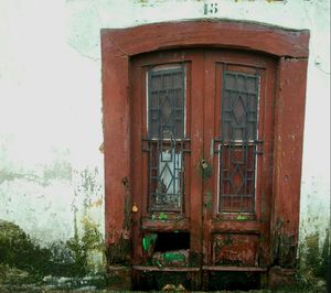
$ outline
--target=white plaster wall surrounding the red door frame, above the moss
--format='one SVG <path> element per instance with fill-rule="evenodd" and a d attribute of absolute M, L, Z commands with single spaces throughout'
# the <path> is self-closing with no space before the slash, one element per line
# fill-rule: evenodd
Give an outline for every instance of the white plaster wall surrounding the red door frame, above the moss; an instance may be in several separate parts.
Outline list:
<path fill-rule="evenodd" d="M 329 0 L 0 0 L 0 219 L 45 245 L 73 236 L 75 210 L 103 232 L 99 30 L 202 18 L 310 30 L 300 237 L 325 235 Z"/>

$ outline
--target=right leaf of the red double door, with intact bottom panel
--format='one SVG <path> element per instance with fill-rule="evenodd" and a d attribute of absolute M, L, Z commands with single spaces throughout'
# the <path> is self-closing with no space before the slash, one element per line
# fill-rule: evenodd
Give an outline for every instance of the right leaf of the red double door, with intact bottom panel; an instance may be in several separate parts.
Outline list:
<path fill-rule="evenodd" d="M 203 265 L 266 267 L 276 67 L 229 51 L 206 52 L 205 66 Z"/>

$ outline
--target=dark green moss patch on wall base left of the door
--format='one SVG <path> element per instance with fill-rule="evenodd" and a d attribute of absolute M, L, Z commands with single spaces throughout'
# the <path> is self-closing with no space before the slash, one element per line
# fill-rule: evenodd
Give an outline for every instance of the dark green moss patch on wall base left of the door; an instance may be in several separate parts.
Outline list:
<path fill-rule="evenodd" d="M 58 241 L 42 248 L 19 226 L 0 220 L 0 264 L 22 270 L 34 281 L 50 274 L 61 276 L 87 274 L 89 271 L 86 251 L 89 247 L 90 242 L 87 239 L 75 235 L 66 242 Z"/>

